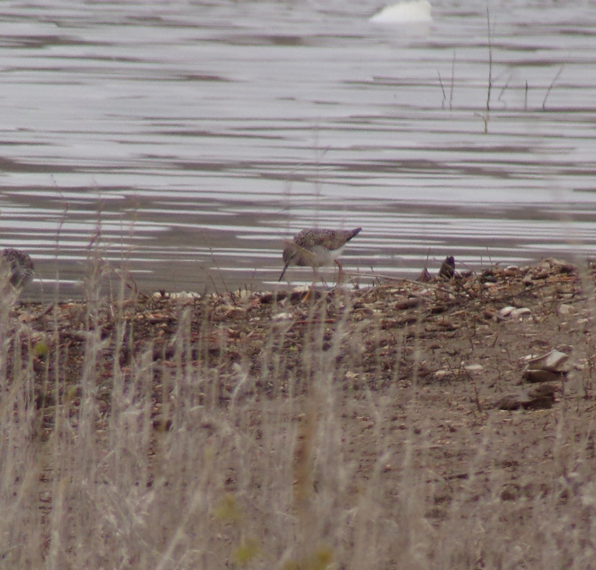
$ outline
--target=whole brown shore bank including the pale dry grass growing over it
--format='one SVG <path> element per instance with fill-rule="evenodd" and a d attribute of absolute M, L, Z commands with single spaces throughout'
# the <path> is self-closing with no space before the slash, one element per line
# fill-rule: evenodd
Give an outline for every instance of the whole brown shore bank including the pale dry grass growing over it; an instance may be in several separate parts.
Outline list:
<path fill-rule="evenodd" d="M 95 290 L 87 302 L 14 306 L 4 390 L 16 403 L 2 429 L 11 465 L 33 474 L 42 522 L 18 528 L 42 546 L 27 553 L 44 564 L 56 533 L 74 549 L 84 523 L 70 512 L 120 521 L 116 489 L 141 497 L 131 509 L 150 521 L 142 536 L 167 541 L 180 512 L 204 512 L 193 528 L 210 567 L 238 552 L 239 534 L 255 559 L 277 560 L 278 543 L 309 552 L 309 528 L 349 565 L 343 533 L 368 528 L 350 513 L 370 509 L 390 523 L 375 536 L 394 561 L 395 524 L 421 529 L 416 556 L 423 544 L 429 560 L 437 547 L 454 559 L 500 556 L 511 541 L 531 549 L 541 525 L 564 537 L 561 520 L 582 532 L 596 472 L 594 283 L 594 268 L 547 259 L 306 303 L 299 292 L 132 290 L 111 302 Z M 197 496 L 210 506 L 193 506 Z M 129 547 L 128 520 L 109 543 Z"/>

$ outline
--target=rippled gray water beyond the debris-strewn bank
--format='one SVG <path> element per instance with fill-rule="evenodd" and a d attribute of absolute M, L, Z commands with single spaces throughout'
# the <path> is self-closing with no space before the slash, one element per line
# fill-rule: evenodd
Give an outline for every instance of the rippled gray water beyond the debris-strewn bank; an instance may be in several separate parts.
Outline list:
<path fill-rule="evenodd" d="M 28 294 L 77 295 L 94 255 L 145 292 L 271 289 L 306 226 L 362 226 L 364 284 L 591 255 L 596 3 L 491 2 L 490 35 L 483 2 L 379 8 L 0 4 L 0 246 L 35 259 Z"/>

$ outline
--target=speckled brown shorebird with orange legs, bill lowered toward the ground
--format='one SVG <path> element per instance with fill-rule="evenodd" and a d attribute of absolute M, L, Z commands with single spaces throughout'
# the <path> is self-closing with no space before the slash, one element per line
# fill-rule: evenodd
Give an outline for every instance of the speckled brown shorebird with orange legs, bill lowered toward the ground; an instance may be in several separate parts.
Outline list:
<path fill-rule="evenodd" d="M 337 284 L 340 284 L 343 267 L 337 261 L 337 256 L 342 253 L 346 243 L 352 237 L 357 236 L 361 230 L 362 228 L 354 228 L 353 230 L 319 230 L 312 228 L 300 231 L 292 240 L 286 240 L 284 242 L 283 258 L 285 265 L 279 281 L 283 279 L 285 270 L 290 265 L 309 265 L 312 267 L 315 279 L 312 281 L 311 289 L 306 294 L 305 299 L 307 299 L 319 277 L 318 268 L 335 263 L 339 268 Z"/>

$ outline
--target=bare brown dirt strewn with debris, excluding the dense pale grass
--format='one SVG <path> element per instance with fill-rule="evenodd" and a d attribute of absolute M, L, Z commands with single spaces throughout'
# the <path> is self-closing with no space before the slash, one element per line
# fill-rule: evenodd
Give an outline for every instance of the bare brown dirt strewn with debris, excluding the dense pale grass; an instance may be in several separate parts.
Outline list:
<path fill-rule="evenodd" d="M 530 513 L 515 505 L 538 498 L 564 509 L 574 469 L 589 480 L 596 473 L 592 423 L 585 421 L 595 408 L 593 287 L 593 271 L 546 260 L 451 280 L 317 292 L 306 302 L 302 293 L 284 292 L 156 295 L 120 305 L 101 302 L 95 313 L 91 303 L 27 304 L 17 316 L 33 331 L 27 350 L 38 377 L 36 402 L 48 411 L 44 437 L 53 429 L 55 405 L 48 383 L 56 364 L 48 355 L 60 347 L 59 366 L 70 381 L 58 399 L 70 402 L 76 421 L 89 334 L 104 341 L 97 360 L 98 425 L 113 405 L 114 362 L 126 373 L 142 355 L 159 365 L 156 428 L 176 428 L 179 400 L 169 397 L 175 388 L 164 388 L 164 371 L 191 363 L 218 378 L 218 389 L 201 393 L 200 403 L 242 408 L 251 418 L 244 428 L 256 441 L 272 418 L 324 421 L 319 378 L 327 372 L 337 396 L 342 450 L 355 465 L 352 486 L 339 500 L 350 503 L 379 468 L 375 450 L 382 439 L 380 493 L 387 505 L 402 481 L 402 466 L 414 465 L 427 483 L 423 504 L 430 524 L 439 527 L 448 518 L 462 488 L 472 509 L 498 480 L 502 502 L 511 505 L 504 516 L 517 528 Z M 512 317 L 499 313 L 505 306 L 529 311 Z M 536 385 L 523 380 L 524 357 L 553 349 L 569 355 L 567 368 L 554 375 L 550 390 L 529 395 Z M 248 380 L 239 383 L 239 377 Z M 290 395 L 302 408 L 284 407 Z M 209 422 L 203 427 L 209 430 Z M 315 470 L 315 493 L 326 476 Z M 294 477 L 300 486 L 300 473 Z M 237 488 L 237 474 L 231 473 L 226 488 Z"/>

